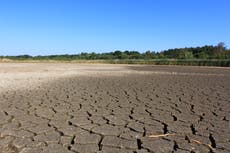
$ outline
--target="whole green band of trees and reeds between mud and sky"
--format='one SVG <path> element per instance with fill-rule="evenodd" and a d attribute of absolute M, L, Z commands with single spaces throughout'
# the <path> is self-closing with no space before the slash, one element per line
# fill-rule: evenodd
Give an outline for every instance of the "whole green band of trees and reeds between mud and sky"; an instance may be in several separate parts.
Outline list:
<path fill-rule="evenodd" d="M 63 61 L 111 64 L 156 64 L 156 65 L 198 65 L 198 66 L 230 66 L 230 50 L 224 43 L 216 46 L 175 48 L 161 52 L 120 51 L 108 53 L 86 53 L 73 55 L 47 56 L 0 56 L 0 61 Z"/>

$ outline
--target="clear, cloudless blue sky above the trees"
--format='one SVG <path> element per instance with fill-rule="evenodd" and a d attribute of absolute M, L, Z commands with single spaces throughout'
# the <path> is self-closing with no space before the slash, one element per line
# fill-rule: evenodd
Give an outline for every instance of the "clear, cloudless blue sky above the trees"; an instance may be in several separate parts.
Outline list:
<path fill-rule="evenodd" d="M 230 48 L 230 0 L 0 0 L 0 55 Z"/>

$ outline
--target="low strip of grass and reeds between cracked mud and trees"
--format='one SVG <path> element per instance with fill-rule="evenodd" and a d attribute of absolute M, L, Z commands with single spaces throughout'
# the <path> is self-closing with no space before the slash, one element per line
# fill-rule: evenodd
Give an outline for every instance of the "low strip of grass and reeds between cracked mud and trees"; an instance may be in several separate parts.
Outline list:
<path fill-rule="evenodd" d="M 49 60 L 49 59 L 7 59 L 2 63 L 85 63 L 85 64 L 146 64 L 146 65 L 184 65 L 230 67 L 230 59 L 108 59 L 108 60 Z"/>

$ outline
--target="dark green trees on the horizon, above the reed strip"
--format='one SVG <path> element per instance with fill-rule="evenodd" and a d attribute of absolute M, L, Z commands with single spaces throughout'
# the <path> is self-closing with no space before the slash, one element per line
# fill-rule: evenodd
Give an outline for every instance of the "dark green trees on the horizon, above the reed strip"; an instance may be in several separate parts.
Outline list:
<path fill-rule="evenodd" d="M 48 56 L 0 56 L 11 60 L 129 60 L 129 59 L 230 59 L 230 50 L 227 49 L 224 43 L 220 42 L 216 46 L 206 45 L 202 47 L 189 48 L 174 48 L 161 52 L 146 51 L 140 53 L 138 51 L 120 51 L 116 50 L 109 53 L 80 53 L 80 54 L 65 54 L 65 55 L 48 55 Z"/>

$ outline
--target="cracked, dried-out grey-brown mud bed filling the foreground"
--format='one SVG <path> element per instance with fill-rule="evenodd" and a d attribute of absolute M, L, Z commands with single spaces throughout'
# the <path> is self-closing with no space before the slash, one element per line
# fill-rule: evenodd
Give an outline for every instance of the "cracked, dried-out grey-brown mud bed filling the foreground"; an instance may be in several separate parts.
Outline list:
<path fill-rule="evenodd" d="M 230 69 L 0 63 L 0 153 L 229 153 Z"/>

